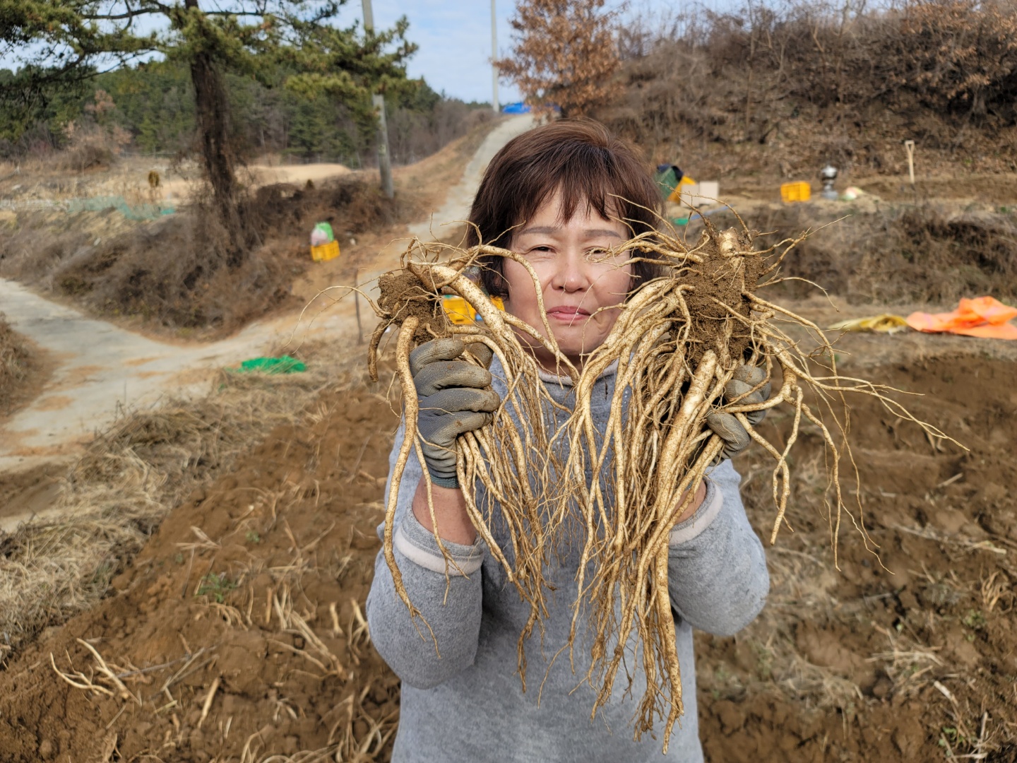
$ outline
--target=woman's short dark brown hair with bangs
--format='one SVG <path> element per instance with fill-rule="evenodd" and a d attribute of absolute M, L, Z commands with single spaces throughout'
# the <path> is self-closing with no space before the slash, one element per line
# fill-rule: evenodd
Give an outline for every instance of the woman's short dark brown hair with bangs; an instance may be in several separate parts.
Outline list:
<path fill-rule="evenodd" d="M 517 135 L 494 155 L 470 210 L 468 245 L 510 246 L 513 228 L 555 191 L 565 222 L 586 203 L 605 220 L 619 218 L 634 236 L 660 223 L 657 185 L 635 149 L 592 119 L 559 119 Z M 486 257 L 483 266 L 484 288 L 506 297 L 501 257 Z M 658 275 L 656 266 L 636 262 L 633 288 Z"/>

